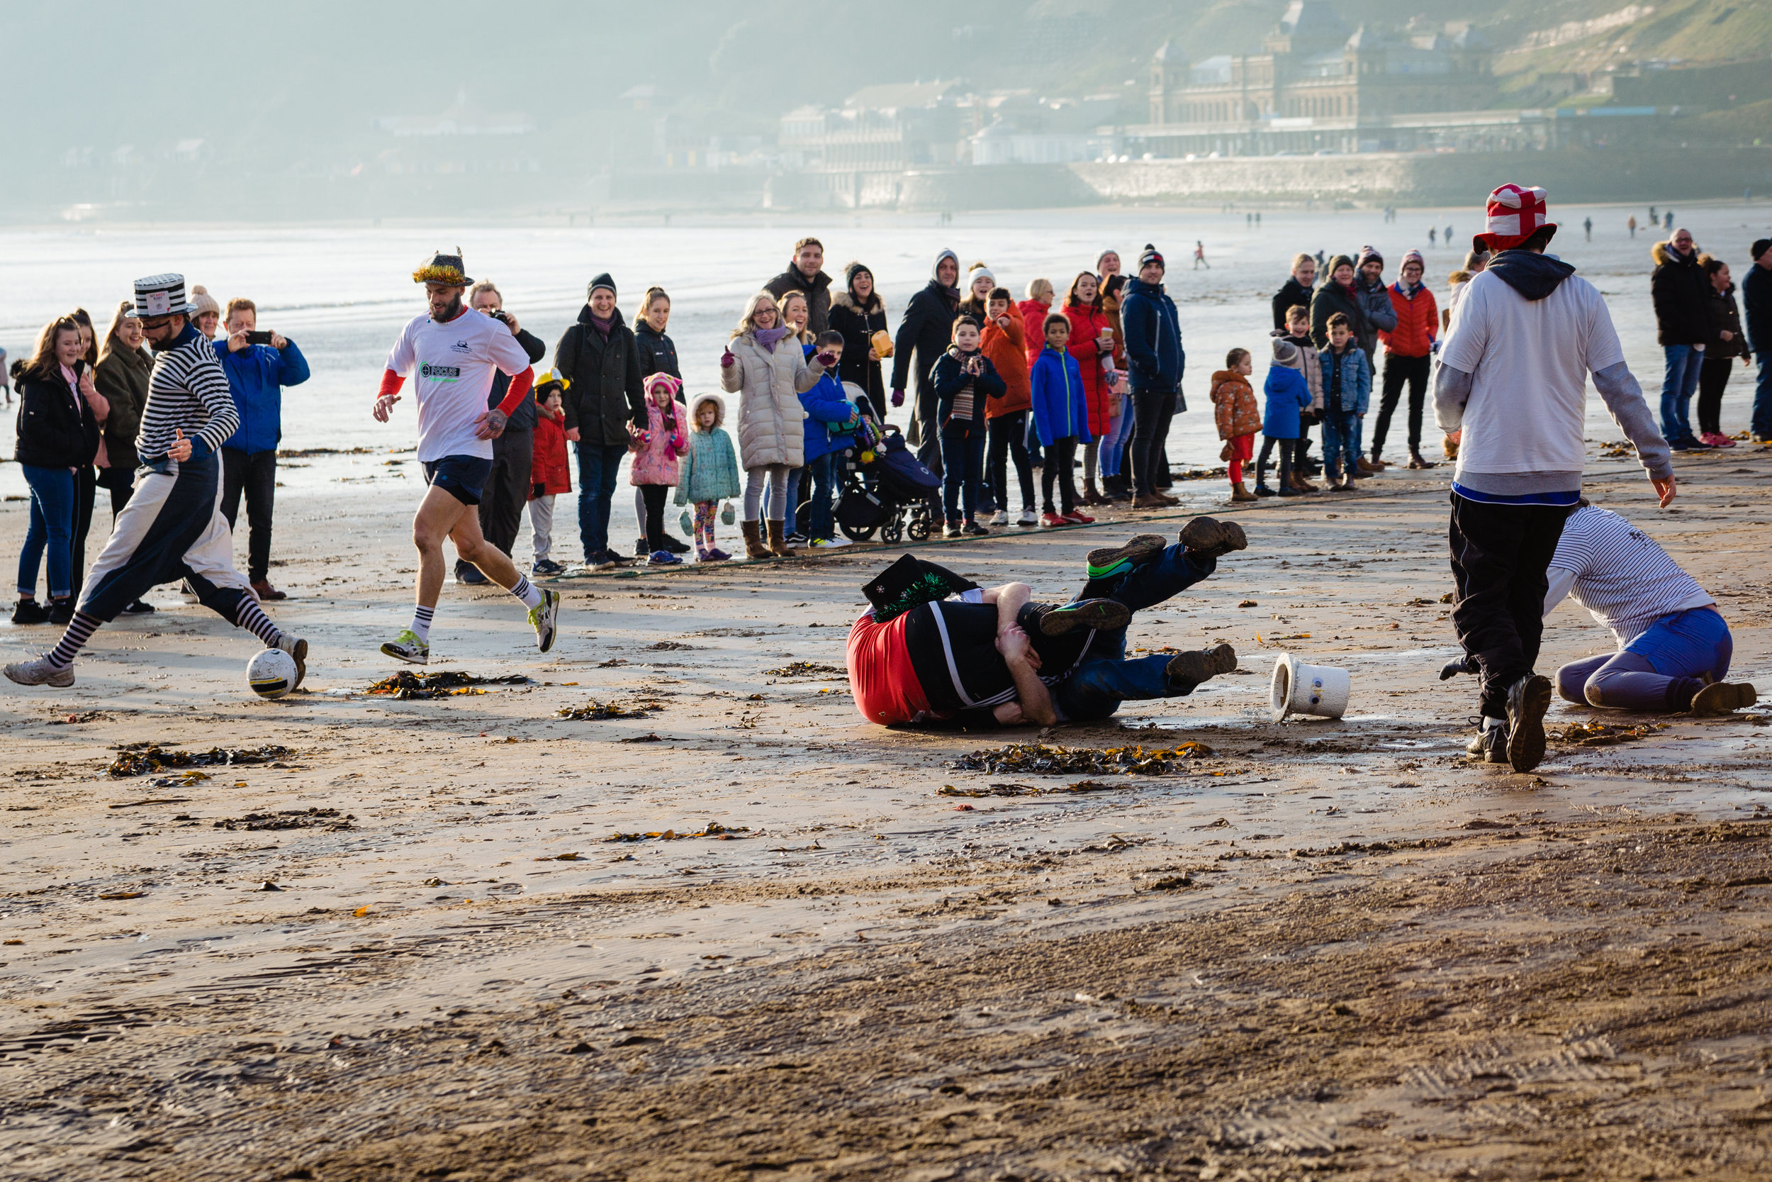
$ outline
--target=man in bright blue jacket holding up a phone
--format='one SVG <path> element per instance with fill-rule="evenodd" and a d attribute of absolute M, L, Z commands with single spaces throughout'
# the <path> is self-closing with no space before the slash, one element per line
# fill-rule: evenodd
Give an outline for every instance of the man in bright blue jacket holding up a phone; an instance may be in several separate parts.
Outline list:
<path fill-rule="evenodd" d="M 246 579 L 259 599 L 287 599 L 271 587 L 271 503 L 276 496 L 276 441 L 284 438 L 284 386 L 308 379 L 308 362 L 294 340 L 271 333 L 271 344 L 252 344 L 259 307 L 252 299 L 227 301 L 227 347 L 216 349 L 229 393 L 239 411 L 239 429 L 222 445 L 222 516 L 229 530 L 246 493 Z"/>

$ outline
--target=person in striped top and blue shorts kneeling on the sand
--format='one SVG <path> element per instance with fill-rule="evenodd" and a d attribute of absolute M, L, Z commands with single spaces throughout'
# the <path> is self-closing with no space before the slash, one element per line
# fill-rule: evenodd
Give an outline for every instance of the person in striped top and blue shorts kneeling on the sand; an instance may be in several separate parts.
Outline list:
<path fill-rule="evenodd" d="M 1566 702 L 1614 711 L 1728 714 L 1758 700 L 1751 682 L 1726 682 L 1735 640 L 1717 601 L 1667 551 L 1609 509 L 1586 502 L 1563 523 L 1550 558 L 1545 615 L 1570 595 L 1613 629 L 1618 652 L 1556 672 Z M 1441 680 L 1471 670 L 1451 661 Z"/>

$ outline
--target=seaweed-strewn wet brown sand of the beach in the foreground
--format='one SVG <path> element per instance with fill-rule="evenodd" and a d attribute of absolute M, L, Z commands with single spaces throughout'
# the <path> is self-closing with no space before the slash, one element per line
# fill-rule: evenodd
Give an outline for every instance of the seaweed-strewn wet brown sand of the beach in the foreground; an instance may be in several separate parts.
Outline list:
<path fill-rule="evenodd" d="M 1676 512 L 1598 452 L 1589 496 L 1772 691 L 1772 454 L 1676 463 Z M 74 689 L 0 695 L 5 1177 L 1765 1177 L 1772 711 L 1558 704 L 1667 725 L 1467 764 L 1444 468 L 1239 507 L 1249 549 L 1131 643 L 1242 668 L 1049 735 L 1210 748 L 1159 776 L 953 769 L 1037 732 L 886 732 L 840 679 L 771 673 L 843 663 L 888 560 L 859 548 L 562 579 L 546 657 L 450 585 L 434 668 L 533 682 L 369 696 L 413 565 L 409 482 L 370 475 L 278 505 L 305 693 L 252 698 L 250 638 L 161 594 Z M 1177 491 L 920 551 L 1056 597 L 1129 523 L 1228 512 Z M 1540 668 L 1609 647 L 1563 604 Z M 1345 719 L 1269 719 L 1286 650 L 1352 670 Z M 592 698 L 659 705 L 556 716 Z M 291 753 L 106 774 L 144 741 Z"/>

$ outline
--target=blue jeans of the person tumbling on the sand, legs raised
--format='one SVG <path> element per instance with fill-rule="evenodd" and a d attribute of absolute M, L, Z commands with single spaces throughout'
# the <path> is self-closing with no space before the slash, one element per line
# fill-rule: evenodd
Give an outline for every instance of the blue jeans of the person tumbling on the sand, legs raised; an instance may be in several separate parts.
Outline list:
<path fill-rule="evenodd" d="M 1139 611 L 1178 595 L 1216 569 L 1217 558 L 1201 558 L 1180 546 L 1170 546 L 1125 574 L 1086 583 L 1077 597 L 1115 599 Z M 1138 702 L 1193 693 L 1198 682 L 1170 679 L 1170 659 L 1171 656 L 1162 652 L 1127 659 L 1125 629 L 1099 631 L 1077 668 L 1053 686 L 1053 705 L 1058 707 L 1060 718 L 1095 721 L 1109 718 L 1127 698 Z"/>

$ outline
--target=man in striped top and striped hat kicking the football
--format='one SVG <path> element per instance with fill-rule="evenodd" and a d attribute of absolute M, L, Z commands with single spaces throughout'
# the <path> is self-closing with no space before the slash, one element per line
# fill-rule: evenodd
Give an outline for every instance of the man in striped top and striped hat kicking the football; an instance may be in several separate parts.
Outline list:
<path fill-rule="evenodd" d="M 234 434 L 239 413 L 227 374 L 209 340 L 191 326 L 190 312 L 183 275 L 135 282 L 129 315 L 142 321 L 156 354 L 135 445 L 142 470 L 135 494 L 92 564 L 62 642 L 35 659 L 5 666 L 5 675 L 21 686 L 73 686 L 74 656 L 99 624 L 115 620 L 124 604 L 151 587 L 181 578 L 222 618 L 294 657 L 294 686 L 307 673 L 308 642 L 271 624 L 246 578 L 234 569 L 234 539 L 220 510 L 216 448 Z"/>

